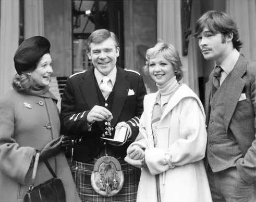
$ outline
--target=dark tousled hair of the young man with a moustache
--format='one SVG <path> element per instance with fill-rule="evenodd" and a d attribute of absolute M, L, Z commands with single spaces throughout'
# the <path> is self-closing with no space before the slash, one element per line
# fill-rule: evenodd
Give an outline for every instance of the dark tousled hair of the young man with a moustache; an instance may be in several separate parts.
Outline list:
<path fill-rule="evenodd" d="M 220 32 L 224 36 L 233 33 L 233 46 L 240 51 L 242 42 L 239 39 L 236 23 L 225 12 L 216 10 L 205 12 L 196 23 L 196 32 L 194 36 L 197 37 L 204 28 L 208 28 L 213 34 Z"/>

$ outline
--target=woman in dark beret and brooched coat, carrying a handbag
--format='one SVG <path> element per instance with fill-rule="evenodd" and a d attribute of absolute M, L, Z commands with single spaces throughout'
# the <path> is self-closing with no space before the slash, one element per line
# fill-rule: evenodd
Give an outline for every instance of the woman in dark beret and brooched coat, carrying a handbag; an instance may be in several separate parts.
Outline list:
<path fill-rule="evenodd" d="M 47 160 L 64 184 L 66 201 L 81 201 L 62 152 L 59 112 L 48 86 L 53 73 L 50 42 L 42 36 L 26 39 L 14 63 L 14 89 L 0 100 L 0 201 L 23 201 L 36 151 L 35 185 L 52 178 L 43 163 Z"/>

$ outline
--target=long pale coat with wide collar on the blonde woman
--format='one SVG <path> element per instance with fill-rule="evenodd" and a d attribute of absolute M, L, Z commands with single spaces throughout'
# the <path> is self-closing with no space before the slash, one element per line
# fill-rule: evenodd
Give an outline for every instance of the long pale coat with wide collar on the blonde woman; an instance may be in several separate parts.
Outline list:
<path fill-rule="evenodd" d="M 145 149 L 147 163 L 141 170 L 137 201 L 157 202 L 155 174 L 160 174 L 162 202 L 211 202 L 202 160 L 207 141 L 202 103 L 186 84 L 181 84 L 160 118 L 158 146 L 154 147 L 152 113 L 158 94 L 159 91 L 145 96 L 138 139 L 144 138 L 131 144 Z M 174 168 L 164 160 L 166 153 Z"/>

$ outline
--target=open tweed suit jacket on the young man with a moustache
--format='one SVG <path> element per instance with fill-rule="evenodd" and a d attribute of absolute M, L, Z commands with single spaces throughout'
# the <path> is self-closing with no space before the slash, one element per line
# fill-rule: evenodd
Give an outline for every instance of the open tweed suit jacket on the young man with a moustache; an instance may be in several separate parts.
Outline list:
<path fill-rule="evenodd" d="M 206 125 L 210 117 L 210 96 L 213 73 L 205 86 Z M 235 137 L 243 156 L 237 160 L 236 166 L 243 180 L 249 184 L 256 179 L 256 63 L 239 56 L 234 69 L 228 74 L 229 83 L 224 93 L 224 126 L 227 136 Z M 246 99 L 241 100 L 245 93 Z M 222 151 L 220 151 L 222 153 Z M 217 155 L 215 156 L 218 157 Z"/>

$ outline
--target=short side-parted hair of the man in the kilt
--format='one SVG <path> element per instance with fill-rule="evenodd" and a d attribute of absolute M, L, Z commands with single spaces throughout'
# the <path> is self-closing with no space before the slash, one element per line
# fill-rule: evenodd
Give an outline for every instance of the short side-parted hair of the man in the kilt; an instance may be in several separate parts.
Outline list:
<path fill-rule="evenodd" d="M 100 29 L 100 30 L 95 30 L 94 32 L 92 32 L 89 36 L 89 38 L 87 39 L 87 51 L 90 52 L 91 51 L 91 44 L 100 44 L 103 41 L 105 41 L 108 38 L 112 38 L 116 48 L 119 47 L 119 42 L 118 39 L 116 37 L 116 35 L 113 32 L 110 32 L 106 29 Z"/>

